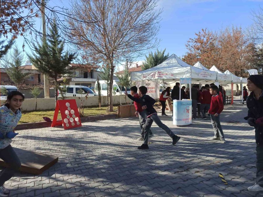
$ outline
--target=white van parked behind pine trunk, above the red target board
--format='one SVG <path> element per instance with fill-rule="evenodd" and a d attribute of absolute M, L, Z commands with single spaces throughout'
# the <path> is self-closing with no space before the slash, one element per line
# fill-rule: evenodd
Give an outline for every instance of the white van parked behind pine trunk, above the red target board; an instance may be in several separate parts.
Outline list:
<path fill-rule="evenodd" d="M 63 88 L 63 86 L 60 86 L 60 88 Z M 79 91 L 82 91 L 82 97 L 86 96 L 87 93 L 89 93 L 89 96 L 98 96 L 97 93 L 86 86 L 67 86 L 66 97 L 81 97 L 81 94 L 78 93 Z M 60 90 L 58 90 L 58 97 L 62 97 Z"/>

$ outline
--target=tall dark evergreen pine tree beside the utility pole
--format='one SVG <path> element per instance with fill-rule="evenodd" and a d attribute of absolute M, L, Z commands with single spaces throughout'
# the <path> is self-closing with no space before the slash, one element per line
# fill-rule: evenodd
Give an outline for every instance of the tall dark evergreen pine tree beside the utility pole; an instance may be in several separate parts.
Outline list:
<path fill-rule="evenodd" d="M 64 43 L 60 39 L 56 22 L 49 27 L 48 39 L 41 39 L 41 43 L 33 44 L 33 55 L 27 54 L 30 61 L 40 72 L 47 74 L 55 81 L 56 101 L 58 100 L 58 78 L 70 74 L 68 65 L 75 59 L 76 53 L 64 51 Z"/>

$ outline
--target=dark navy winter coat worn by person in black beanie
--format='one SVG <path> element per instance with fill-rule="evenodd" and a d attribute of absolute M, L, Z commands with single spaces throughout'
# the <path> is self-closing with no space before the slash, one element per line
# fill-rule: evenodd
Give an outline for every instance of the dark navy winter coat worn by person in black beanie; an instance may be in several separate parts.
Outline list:
<path fill-rule="evenodd" d="M 259 100 L 256 100 L 254 97 L 254 93 L 251 92 L 248 96 L 247 100 L 248 107 L 248 116 L 245 117 L 245 120 L 248 118 L 257 118 L 263 117 L 263 91 L 259 97 Z M 255 124 L 255 139 L 257 144 L 263 144 L 263 126 L 259 126 Z"/>

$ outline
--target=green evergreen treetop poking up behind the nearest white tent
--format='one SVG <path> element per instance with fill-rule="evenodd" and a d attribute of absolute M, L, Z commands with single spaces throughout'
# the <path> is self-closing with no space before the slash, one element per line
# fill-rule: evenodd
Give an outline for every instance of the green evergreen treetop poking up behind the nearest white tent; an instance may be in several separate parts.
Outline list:
<path fill-rule="evenodd" d="M 166 49 L 164 49 L 163 51 L 159 51 L 157 49 L 157 51 L 155 51 L 154 53 L 150 52 L 148 54 L 148 57 L 145 56 L 146 57 L 146 61 L 143 62 L 142 70 L 146 70 L 146 69 L 155 67 L 158 64 L 161 64 L 163 61 L 165 61 L 169 57 L 169 53 L 164 55 L 165 50 Z"/>

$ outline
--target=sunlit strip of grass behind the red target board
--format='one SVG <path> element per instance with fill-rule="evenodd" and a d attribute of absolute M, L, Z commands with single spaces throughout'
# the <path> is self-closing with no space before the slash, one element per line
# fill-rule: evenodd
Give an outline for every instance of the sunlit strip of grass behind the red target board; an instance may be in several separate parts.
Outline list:
<path fill-rule="evenodd" d="M 110 112 L 110 114 L 117 114 L 117 106 L 113 106 L 114 112 Z M 22 118 L 20 119 L 18 124 L 22 123 L 34 123 L 34 122 L 42 122 L 44 121 L 43 117 L 49 117 L 51 120 L 53 119 L 55 110 L 44 110 L 44 111 L 22 111 Z M 107 107 L 92 107 L 92 108 L 84 108 L 84 116 L 98 116 L 107 114 Z M 58 114 L 58 120 L 61 119 L 60 113 Z"/>

